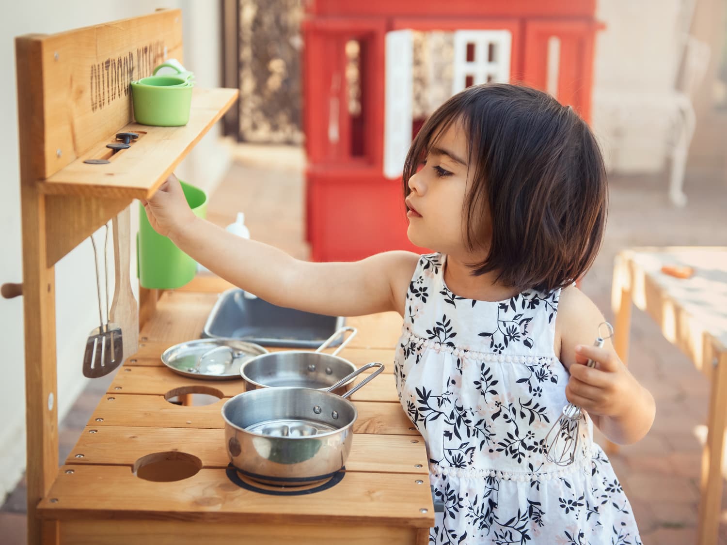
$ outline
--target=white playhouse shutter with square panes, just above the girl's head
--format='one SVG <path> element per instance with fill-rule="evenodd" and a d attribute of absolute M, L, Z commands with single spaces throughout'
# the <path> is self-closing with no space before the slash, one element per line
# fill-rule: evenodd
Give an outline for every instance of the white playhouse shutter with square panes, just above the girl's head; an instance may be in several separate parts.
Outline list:
<path fill-rule="evenodd" d="M 454 32 L 454 82 L 452 94 L 467 87 L 467 76 L 472 84 L 489 81 L 510 81 L 510 31 L 455 31 Z M 474 47 L 474 58 L 467 61 L 467 45 Z"/>

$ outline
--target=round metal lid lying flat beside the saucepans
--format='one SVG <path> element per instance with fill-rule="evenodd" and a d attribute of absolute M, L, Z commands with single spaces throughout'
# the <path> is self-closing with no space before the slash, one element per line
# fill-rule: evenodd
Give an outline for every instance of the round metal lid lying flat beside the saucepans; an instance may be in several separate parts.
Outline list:
<path fill-rule="evenodd" d="M 174 344 L 161 354 L 161 362 L 175 373 L 195 379 L 240 379 L 240 366 L 268 350 L 238 339 L 195 339 Z"/>

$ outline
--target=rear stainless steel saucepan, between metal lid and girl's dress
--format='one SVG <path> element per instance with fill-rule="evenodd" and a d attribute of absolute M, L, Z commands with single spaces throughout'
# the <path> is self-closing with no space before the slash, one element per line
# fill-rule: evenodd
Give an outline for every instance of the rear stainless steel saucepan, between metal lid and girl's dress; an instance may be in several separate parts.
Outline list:
<path fill-rule="evenodd" d="M 350 331 L 350 335 L 332 354 L 322 352 L 338 336 Z M 356 366 L 337 354 L 356 335 L 356 328 L 343 327 L 329 337 L 315 352 L 310 350 L 290 350 L 260 354 L 246 360 L 240 366 L 240 376 L 245 381 L 245 391 L 258 388 L 293 386 L 313 389 L 329 389 L 340 383 L 334 391 L 343 395 L 351 386 L 353 379 L 342 382 L 346 376 L 353 377 Z"/>

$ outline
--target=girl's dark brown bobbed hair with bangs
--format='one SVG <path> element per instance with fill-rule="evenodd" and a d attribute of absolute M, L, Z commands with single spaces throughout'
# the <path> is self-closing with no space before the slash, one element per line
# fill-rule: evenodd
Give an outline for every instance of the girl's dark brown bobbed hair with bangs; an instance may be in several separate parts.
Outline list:
<path fill-rule="evenodd" d="M 453 123 L 469 136 L 474 182 L 465 197 L 467 246 L 490 250 L 473 275 L 494 271 L 507 286 L 551 291 L 580 278 L 601 247 L 608 186 L 598 143 L 572 108 L 525 86 L 483 84 L 451 97 L 409 148 L 409 178 Z"/>

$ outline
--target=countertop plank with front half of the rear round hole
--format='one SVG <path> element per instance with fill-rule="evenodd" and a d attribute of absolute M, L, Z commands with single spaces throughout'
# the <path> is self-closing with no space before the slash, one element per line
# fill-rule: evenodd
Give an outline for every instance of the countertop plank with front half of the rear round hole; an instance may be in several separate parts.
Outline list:
<path fill-rule="evenodd" d="M 213 392 L 209 387 L 208 392 Z M 222 392 L 218 394 L 222 396 Z M 113 400 L 109 400 L 113 397 Z M 164 400 L 161 395 L 105 395 L 89 419 L 89 426 L 144 426 L 170 428 L 223 428 L 222 398 L 212 405 L 182 406 Z M 399 403 L 357 401 L 356 433 L 417 435 Z M 102 419 L 102 420 L 97 420 Z"/>

